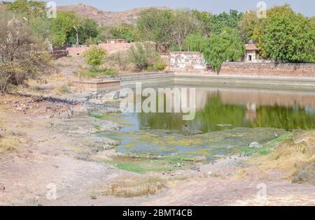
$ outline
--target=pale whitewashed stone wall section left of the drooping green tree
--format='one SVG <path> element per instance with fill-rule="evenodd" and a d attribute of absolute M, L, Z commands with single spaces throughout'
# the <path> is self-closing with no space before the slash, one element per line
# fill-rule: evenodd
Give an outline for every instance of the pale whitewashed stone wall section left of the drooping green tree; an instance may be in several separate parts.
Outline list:
<path fill-rule="evenodd" d="M 171 52 L 169 54 L 170 71 L 207 71 L 204 55 L 200 52 Z"/>

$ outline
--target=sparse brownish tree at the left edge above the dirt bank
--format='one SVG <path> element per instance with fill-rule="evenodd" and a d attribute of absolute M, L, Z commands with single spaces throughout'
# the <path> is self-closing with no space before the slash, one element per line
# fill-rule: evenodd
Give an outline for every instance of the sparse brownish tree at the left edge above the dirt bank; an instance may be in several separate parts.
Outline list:
<path fill-rule="evenodd" d="M 0 21 L 0 91 L 19 85 L 45 71 L 50 54 L 29 31 L 27 25 L 13 17 Z"/>

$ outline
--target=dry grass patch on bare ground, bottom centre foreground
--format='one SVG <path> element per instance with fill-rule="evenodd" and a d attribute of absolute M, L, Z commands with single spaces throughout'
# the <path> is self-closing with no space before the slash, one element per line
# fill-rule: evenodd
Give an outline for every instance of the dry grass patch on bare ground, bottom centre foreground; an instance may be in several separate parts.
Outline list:
<path fill-rule="evenodd" d="M 155 176 L 141 176 L 116 179 L 110 186 L 102 191 L 104 196 L 132 198 L 137 196 L 150 196 L 161 193 L 176 179 L 167 179 Z"/>

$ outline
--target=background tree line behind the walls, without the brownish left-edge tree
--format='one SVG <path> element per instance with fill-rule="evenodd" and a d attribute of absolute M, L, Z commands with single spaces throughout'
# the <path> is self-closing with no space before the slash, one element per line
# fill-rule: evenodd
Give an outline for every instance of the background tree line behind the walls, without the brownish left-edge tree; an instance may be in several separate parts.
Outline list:
<path fill-rule="evenodd" d="M 94 20 L 73 12 L 57 12 L 57 18 L 48 19 L 45 17 L 45 3 L 41 1 L 16 0 L 8 4 L 8 10 L 26 14 L 35 32 L 50 38 L 55 46 L 75 44 L 76 29 L 73 27 L 77 27 L 80 44 L 97 44 L 108 38 L 152 41 L 157 48 L 162 45 L 171 51 L 201 51 L 208 59 L 214 58 L 209 57 L 211 53 L 225 48 L 227 52 L 222 59 L 236 61 L 241 59 L 239 54 L 244 54 L 241 43 L 254 41 L 260 56 L 265 59 L 315 61 L 315 19 L 295 13 L 288 4 L 270 8 L 267 18 L 258 18 L 254 10 L 246 13 L 230 10 L 229 13 L 214 15 L 186 8 L 151 8 L 140 13 L 137 24 L 116 27 L 100 27 Z"/>

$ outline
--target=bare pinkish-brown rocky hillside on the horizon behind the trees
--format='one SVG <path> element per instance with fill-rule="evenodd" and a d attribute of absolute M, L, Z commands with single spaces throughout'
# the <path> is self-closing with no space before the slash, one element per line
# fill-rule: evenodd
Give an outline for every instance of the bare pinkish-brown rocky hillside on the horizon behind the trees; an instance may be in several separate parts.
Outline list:
<path fill-rule="evenodd" d="M 152 7 L 168 9 L 167 7 Z M 59 6 L 59 11 L 73 11 L 82 17 L 92 18 L 104 26 L 115 26 L 122 23 L 134 24 L 142 10 L 148 8 L 134 8 L 123 12 L 103 11 L 83 3 L 73 6 Z"/>

